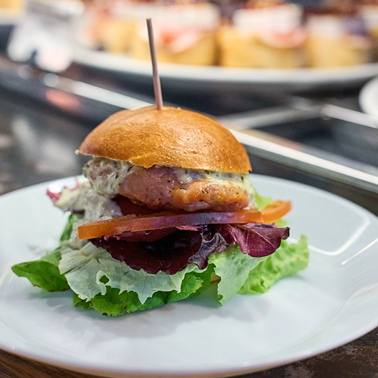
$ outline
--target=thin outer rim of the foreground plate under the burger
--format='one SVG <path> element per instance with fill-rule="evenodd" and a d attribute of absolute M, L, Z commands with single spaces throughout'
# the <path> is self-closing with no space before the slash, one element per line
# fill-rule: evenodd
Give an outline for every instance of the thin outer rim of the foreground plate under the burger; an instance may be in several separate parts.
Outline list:
<path fill-rule="evenodd" d="M 78 176 L 71 176 L 66 177 L 63 179 L 57 179 L 57 180 L 51 180 L 43 183 L 38 183 L 35 185 L 27 186 L 25 188 L 20 188 L 18 190 L 13 190 L 9 193 L 5 193 L 3 195 L 0 195 L 0 205 L 2 202 L 6 201 L 8 197 L 13 197 L 14 195 L 19 195 L 20 193 L 25 193 L 25 191 L 37 189 L 37 188 L 43 188 L 46 187 L 52 183 L 56 183 L 60 186 L 64 185 L 64 183 L 69 181 L 74 181 L 74 179 Z M 79 176 L 80 177 L 80 176 Z M 315 192 L 315 193 L 321 193 L 322 195 L 325 195 L 326 197 L 331 197 L 332 200 L 335 200 L 339 203 L 345 204 L 348 207 L 351 207 L 352 209 L 356 211 L 363 211 L 363 213 L 368 214 L 372 219 L 374 219 L 375 222 L 378 222 L 378 217 L 369 210 L 361 207 L 360 205 L 352 202 L 351 200 L 347 200 L 344 197 L 340 197 L 339 195 L 336 195 L 335 193 L 330 193 L 326 190 L 323 190 L 321 188 L 316 188 L 314 186 L 309 186 L 304 183 L 299 183 L 297 181 L 291 181 L 288 179 L 282 179 L 279 177 L 274 176 L 265 176 L 262 174 L 253 174 L 253 177 L 257 178 L 258 180 L 266 180 L 266 181 L 281 181 L 283 184 L 287 185 L 294 185 L 294 186 L 300 186 L 302 188 L 306 188 L 309 190 L 309 192 Z M 6 270 L 6 269 L 4 269 Z M 1 278 L 1 277 L 0 277 Z M 336 315 L 335 315 L 336 316 Z M 330 319 L 332 320 L 332 319 Z M 206 376 L 206 377 L 223 377 L 228 375 L 237 375 L 237 374 L 247 374 L 251 372 L 257 372 L 260 370 L 267 370 L 272 367 L 277 367 L 280 365 L 286 365 L 289 363 L 297 362 L 300 360 L 304 360 L 306 358 L 310 358 L 313 356 L 316 356 L 320 353 L 325 353 L 326 351 L 330 351 L 332 349 L 337 348 L 338 346 L 342 346 L 344 344 L 347 344 L 354 339 L 357 339 L 358 337 L 361 337 L 365 335 L 367 332 L 370 332 L 371 330 L 374 330 L 374 328 L 377 328 L 378 326 L 378 316 L 377 318 L 372 319 L 370 322 L 365 323 L 363 327 L 358 328 L 358 330 L 354 330 L 354 332 L 349 333 L 346 337 L 339 337 L 336 342 L 328 344 L 328 346 L 318 346 L 316 349 L 303 349 L 302 351 L 297 351 L 293 353 L 292 355 L 286 357 L 286 358 L 280 358 L 279 360 L 275 360 L 273 362 L 272 358 L 265 358 L 262 359 L 261 363 L 255 363 L 255 362 L 244 362 L 241 367 L 241 363 L 235 363 L 232 367 L 200 367 L 198 369 L 195 369 L 193 371 L 186 370 L 185 372 L 181 370 L 164 370 L 164 369 L 156 369 L 154 370 L 124 370 L 120 368 L 113 368 L 109 370 L 107 367 L 101 367 L 101 363 L 98 365 L 94 365 L 93 363 L 90 363 L 89 365 L 85 365 L 85 363 L 80 363 L 79 361 L 70 361 L 69 358 L 66 358 L 66 356 L 60 356 L 59 359 L 49 358 L 49 357 L 43 357 L 41 351 L 38 351 L 34 353 L 33 351 L 27 351 L 27 348 L 18 348 L 18 350 L 13 350 L 11 346 L 6 346 L 6 344 L 3 343 L 3 341 L 0 338 L 0 349 L 3 351 L 6 351 L 8 353 L 15 354 L 20 357 L 24 358 L 31 358 L 32 360 L 36 360 L 41 363 L 46 363 L 48 365 L 53 365 L 57 367 L 62 367 L 66 370 L 73 370 L 76 372 L 86 372 L 87 374 L 94 374 L 94 375 L 103 375 L 106 377 L 132 377 L 132 376 L 138 376 L 138 377 L 167 377 L 169 375 L 174 376 L 180 376 L 180 377 L 200 377 L 200 376 Z M 13 332 L 11 330 L 11 332 Z M 269 362 L 270 360 L 270 362 Z"/>

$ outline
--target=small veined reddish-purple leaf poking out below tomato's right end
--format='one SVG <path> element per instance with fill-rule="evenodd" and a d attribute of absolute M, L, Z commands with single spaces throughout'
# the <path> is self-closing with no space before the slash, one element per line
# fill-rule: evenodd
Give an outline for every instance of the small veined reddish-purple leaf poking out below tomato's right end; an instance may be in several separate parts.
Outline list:
<path fill-rule="evenodd" d="M 239 244 L 241 252 L 252 257 L 271 255 L 289 236 L 289 228 L 277 228 L 267 223 L 246 223 L 244 225 L 216 225 L 228 244 Z"/>

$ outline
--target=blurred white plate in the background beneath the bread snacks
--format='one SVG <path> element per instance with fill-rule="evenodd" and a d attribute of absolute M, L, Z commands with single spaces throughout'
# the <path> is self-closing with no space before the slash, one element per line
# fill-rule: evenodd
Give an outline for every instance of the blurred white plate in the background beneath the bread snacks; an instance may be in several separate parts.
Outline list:
<path fill-rule="evenodd" d="M 135 76 L 138 80 L 151 81 L 150 62 L 144 62 L 109 52 L 76 45 L 74 59 L 80 64 L 106 71 Z M 364 83 L 378 75 L 378 63 L 334 69 L 238 69 L 219 66 L 186 66 L 159 64 L 160 77 L 166 85 L 175 88 L 214 90 L 214 87 L 236 90 L 258 89 L 260 85 L 275 89 L 311 90 L 327 85 L 350 87 Z"/>

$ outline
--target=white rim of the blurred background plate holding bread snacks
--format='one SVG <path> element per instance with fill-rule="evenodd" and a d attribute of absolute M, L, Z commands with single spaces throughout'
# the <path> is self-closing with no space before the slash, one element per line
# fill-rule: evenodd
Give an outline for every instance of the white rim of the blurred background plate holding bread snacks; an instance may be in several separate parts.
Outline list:
<path fill-rule="evenodd" d="M 127 54 L 95 50 L 76 44 L 73 48 L 73 60 L 76 63 L 97 69 L 151 78 L 151 64 L 147 61 L 132 59 Z M 119 64 L 117 64 L 118 62 Z M 314 85 L 368 80 L 378 75 L 378 62 L 324 69 L 308 67 L 248 69 L 160 63 L 159 73 L 162 79 L 195 80 L 202 83 Z"/>

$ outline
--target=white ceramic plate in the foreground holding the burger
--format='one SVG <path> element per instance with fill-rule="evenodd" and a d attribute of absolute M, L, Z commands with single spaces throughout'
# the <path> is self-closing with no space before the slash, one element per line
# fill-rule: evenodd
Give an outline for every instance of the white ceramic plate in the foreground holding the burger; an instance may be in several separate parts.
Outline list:
<path fill-rule="evenodd" d="M 291 236 L 309 238 L 310 264 L 264 295 L 206 296 L 106 318 L 45 293 L 11 265 L 56 243 L 65 217 L 40 184 L 0 197 L 0 347 L 109 377 L 230 376 L 314 356 L 378 325 L 378 218 L 316 188 L 253 176 L 259 193 L 293 200 Z M 38 248 L 41 247 L 42 248 Z"/>

